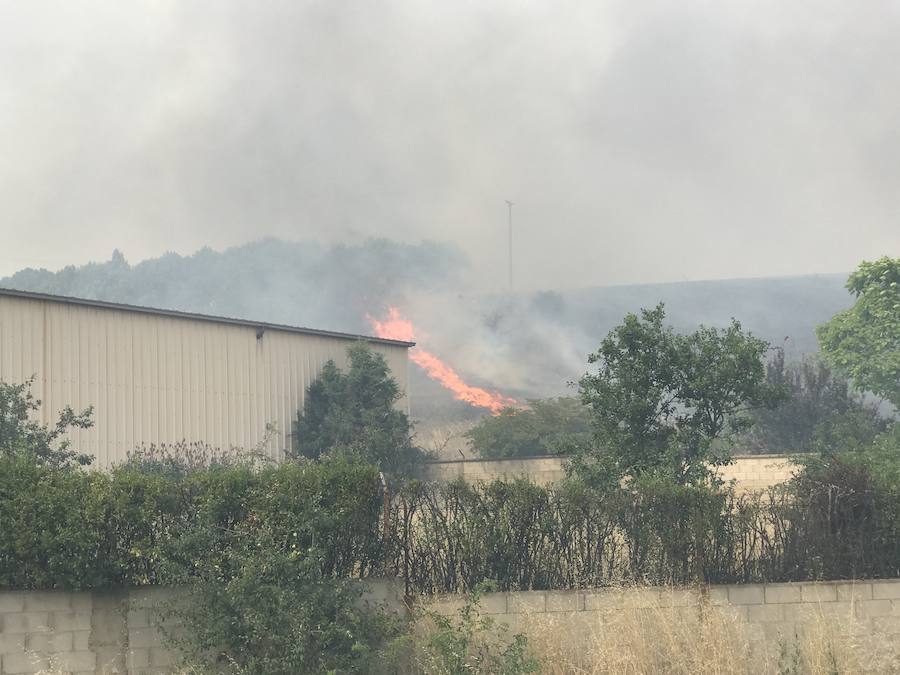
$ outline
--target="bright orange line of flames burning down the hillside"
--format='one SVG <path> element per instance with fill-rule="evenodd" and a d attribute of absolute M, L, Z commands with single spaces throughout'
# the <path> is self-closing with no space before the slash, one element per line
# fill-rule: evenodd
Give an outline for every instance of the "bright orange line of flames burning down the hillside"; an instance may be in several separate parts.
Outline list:
<path fill-rule="evenodd" d="M 412 321 L 404 319 L 396 307 L 388 308 L 388 318 L 384 321 L 379 321 L 371 316 L 369 321 L 378 337 L 407 342 L 412 342 L 414 339 L 415 331 Z M 466 384 L 453 368 L 421 347 L 410 349 L 409 358 L 422 368 L 428 377 L 437 380 L 453 392 L 454 398 L 459 401 L 465 401 L 479 408 L 487 408 L 495 415 L 504 408 L 519 405 L 515 399 L 498 392 L 490 392 L 487 389 Z"/>

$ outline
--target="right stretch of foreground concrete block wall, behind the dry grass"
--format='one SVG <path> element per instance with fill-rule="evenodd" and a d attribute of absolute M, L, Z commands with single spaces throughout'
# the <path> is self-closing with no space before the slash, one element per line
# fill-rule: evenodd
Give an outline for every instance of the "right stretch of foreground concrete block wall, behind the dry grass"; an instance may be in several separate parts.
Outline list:
<path fill-rule="evenodd" d="M 432 607 L 450 615 L 462 604 L 458 596 L 441 596 Z M 654 621 L 678 624 L 691 638 L 700 634 L 703 617 L 715 612 L 737 635 L 740 658 L 773 664 L 782 645 L 827 634 L 867 672 L 900 672 L 900 579 L 491 593 L 481 611 L 511 633 L 573 653 L 642 626 L 649 626 L 651 639 L 666 639 Z"/>

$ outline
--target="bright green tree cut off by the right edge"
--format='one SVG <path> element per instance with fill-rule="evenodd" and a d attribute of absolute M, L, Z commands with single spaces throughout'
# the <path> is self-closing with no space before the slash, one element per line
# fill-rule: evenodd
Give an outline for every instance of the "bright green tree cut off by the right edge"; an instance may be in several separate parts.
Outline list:
<path fill-rule="evenodd" d="M 900 408 L 900 258 L 863 262 L 847 290 L 854 305 L 816 331 L 822 356 L 854 386 Z"/>

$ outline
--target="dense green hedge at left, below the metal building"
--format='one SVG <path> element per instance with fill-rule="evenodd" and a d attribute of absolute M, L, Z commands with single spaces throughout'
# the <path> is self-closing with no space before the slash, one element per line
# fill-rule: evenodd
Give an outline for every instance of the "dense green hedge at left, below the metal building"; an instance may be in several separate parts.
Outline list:
<path fill-rule="evenodd" d="M 105 474 L 2 459 L 0 587 L 177 583 L 260 522 L 286 547 L 325 552 L 325 574 L 367 575 L 385 558 L 382 503 L 377 471 L 346 464 Z"/>

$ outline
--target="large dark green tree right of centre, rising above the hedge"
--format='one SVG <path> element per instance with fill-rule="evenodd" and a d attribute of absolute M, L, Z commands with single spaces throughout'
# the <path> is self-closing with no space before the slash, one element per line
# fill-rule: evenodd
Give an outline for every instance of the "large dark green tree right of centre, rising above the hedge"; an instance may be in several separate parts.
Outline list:
<path fill-rule="evenodd" d="M 766 382 L 769 344 L 741 330 L 700 327 L 689 335 L 665 326 L 662 304 L 628 314 L 588 358 L 597 372 L 580 380 L 593 411 L 595 445 L 575 471 L 594 479 L 658 475 L 680 484 L 706 480 L 731 461 L 726 431 L 750 423 L 742 412 L 783 398 Z"/>

